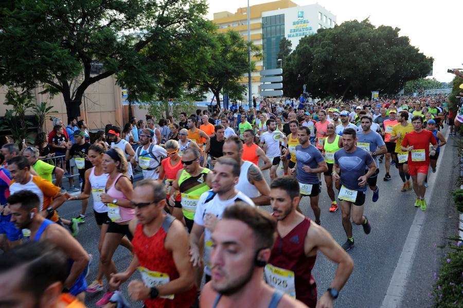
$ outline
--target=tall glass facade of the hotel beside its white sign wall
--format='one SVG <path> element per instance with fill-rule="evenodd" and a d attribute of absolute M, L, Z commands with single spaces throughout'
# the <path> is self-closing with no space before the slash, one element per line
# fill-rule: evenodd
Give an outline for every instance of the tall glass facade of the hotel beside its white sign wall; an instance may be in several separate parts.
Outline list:
<path fill-rule="evenodd" d="M 284 38 L 284 14 L 262 17 L 262 61 L 264 69 L 278 68 L 280 40 Z"/>

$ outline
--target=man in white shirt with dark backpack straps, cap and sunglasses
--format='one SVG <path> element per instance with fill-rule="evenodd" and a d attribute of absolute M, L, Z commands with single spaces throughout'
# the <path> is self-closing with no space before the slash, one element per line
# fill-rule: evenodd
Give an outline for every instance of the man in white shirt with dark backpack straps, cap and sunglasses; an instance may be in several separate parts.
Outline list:
<path fill-rule="evenodd" d="M 144 179 L 157 179 L 159 177 L 158 168 L 161 166 L 162 157 L 166 157 L 166 149 L 152 144 L 151 140 L 154 132 L 150 129 L 143 129 L 140 138 L 140 146 L 135 152 L 135 157 L 131 162 L 140 165 Z M 130 165 L 130 164 L 129 164 Z"/>

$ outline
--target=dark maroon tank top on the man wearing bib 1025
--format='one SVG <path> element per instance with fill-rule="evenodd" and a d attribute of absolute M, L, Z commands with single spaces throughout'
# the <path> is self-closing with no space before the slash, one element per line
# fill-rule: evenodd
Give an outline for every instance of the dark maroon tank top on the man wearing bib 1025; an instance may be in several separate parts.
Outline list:
<path fill-rule="evenodd" d="M 277 234 L 269 263 L 293 271 L 296 299 L 309 307 L 315 307 L 317 303 L 317 286 L 311 272 L 316 256 L 307 257 L 304 252 L 304 241 L 310 223 L 311 220 L 305 218 L 284 238 Z"/>

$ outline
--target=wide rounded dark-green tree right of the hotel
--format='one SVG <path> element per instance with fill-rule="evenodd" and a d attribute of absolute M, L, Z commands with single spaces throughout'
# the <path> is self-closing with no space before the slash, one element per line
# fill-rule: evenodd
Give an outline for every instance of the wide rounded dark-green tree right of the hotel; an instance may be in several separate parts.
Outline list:
<path fill-rule="evenodd" d="M 399 37 L 399 28 L 348 21 L 304 37 L 283 63 L 284 92 L 297 96 L 302 84 L 316 96 L 396 94 L 405 82 L 428 75 L 433 59 Z M 291 82 L 287 82 L 287 81 Z"/>

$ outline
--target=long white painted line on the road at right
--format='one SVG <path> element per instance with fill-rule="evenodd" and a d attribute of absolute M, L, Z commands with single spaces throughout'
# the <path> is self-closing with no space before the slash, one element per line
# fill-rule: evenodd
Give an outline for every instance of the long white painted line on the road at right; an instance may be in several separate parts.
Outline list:
<path fill-rule="evenodd" d="M 449 139 L 449 130 L 447 129 L 446 140 Z M 440 163 L 443 160 L 443 154 L 446 151 L 448 146 L 444 146 L 440 149 L 441 159 L 437 161 L 436 169 L 440 170 Z M 437 173 L 435 173 L 437 174 Z M 431 196 L 434 192 L 436 186 L 435 179 L 437 176 L 428 177 L 428 189 L 426 189 L 426 194 L 424 198 L 428 201 L 431 200 Z M 429 207 L 430 205 L 428 205 Z M 431 205 L 433 206 L 433 205 Z M 402 298 L 404 296 L 405 287 L 408 281 L 408 272 L 413 265 L 413 260 L 415 258 L 415 250 L 420 240 L 421 227 L 423 226 L 424 220 L 426 218 L 427 211 L 422 211 L 420 208 L 417 208 L 415 219 L 413 220 L 412 226 L 408 231 L 407 238 L 400 253 L 399 260 L 397 261 L 394 274 L 389 282 L 389 287 L 387 288 L 386 295 L 384 296 L 383 303 L 381 308 L 397 308 L 400 307 Z"/>

